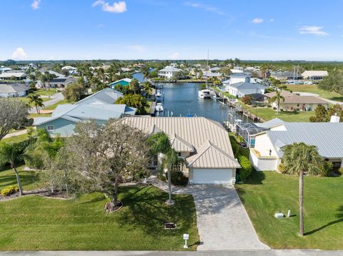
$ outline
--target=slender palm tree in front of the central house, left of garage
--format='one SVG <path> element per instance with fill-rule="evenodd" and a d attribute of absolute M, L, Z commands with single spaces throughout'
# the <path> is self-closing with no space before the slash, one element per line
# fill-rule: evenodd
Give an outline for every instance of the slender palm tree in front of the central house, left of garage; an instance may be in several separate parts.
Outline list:
<path fill-rule="evenodd" d="M 169 190 L 169 199 L 166 202 L 168 205 L 173 205 L 174 201 L 172 200 L 172 167 L 177 163 L 178 156 L 175 150 L 170 145 L 170 140 L 165 133 L 159 132 L 151 135 L 148 139 L 148 143 L 151 147 L 151 153 L 153 155 L 161 154 L 162 163 L 166 168 L 168 174 L 168 190 Z"/>

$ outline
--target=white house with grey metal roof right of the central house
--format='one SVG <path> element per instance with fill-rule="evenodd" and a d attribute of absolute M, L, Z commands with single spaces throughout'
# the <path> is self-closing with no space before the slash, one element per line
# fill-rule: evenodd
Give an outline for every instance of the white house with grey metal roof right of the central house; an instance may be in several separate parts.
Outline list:
<path fill-rule="evenodd" d="M 332 162 L 334 168 L 343 167 L 343 123 L 287 123 L 272 119 L 258 125 L 268 130 L 252 135 L 255 140 L 250 160 L 256 170 L 277 170 L 285 146 L 292 143 L 315 145 L 319 155 Z"/>

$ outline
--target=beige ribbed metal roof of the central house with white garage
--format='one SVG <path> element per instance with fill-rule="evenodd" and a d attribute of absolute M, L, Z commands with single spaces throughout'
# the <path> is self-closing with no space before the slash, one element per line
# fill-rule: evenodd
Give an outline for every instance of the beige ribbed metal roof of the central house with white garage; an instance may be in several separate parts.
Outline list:
<path fill-rule="evenodd" d="M 234 159 L 227 130 L 219 123 L 203 117 L 126 117 L 124 123 L 144 133 L 163 131 L 172 140 L 177 151 L 194 148 L 186 158 L 192 168 L 239 168 Z"/>

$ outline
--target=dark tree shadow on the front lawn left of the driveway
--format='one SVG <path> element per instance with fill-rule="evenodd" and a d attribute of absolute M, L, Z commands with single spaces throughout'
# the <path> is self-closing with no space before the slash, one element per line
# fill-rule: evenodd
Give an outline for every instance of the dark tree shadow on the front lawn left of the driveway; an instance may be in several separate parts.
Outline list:
<path fill-rule="evenodd" d="M 167 199 L 167 193 L 152 186 L 139 189 L 136 193 L 124 193 L 121 200 L 126 209 L 118 212 L 121 227 L 126 230 L 139 228 L 146 235 L 172 237 L 189 232 L 193 225 L 196 226 L 197 219 L 192 195 L 173 195 L 173 206 L 164 204 Z M 177 223 L 177 229 L 164 230 L 164 222 Z"/>

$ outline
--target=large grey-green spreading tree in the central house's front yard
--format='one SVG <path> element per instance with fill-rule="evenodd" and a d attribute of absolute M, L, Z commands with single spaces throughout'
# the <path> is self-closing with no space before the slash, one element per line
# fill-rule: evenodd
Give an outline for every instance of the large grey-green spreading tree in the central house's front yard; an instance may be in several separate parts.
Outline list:
<path fill-rule="evenodd" d="M 66 140 L 65 158 L 80 177 L 81 192 L 101 192 L 111 198 L 106 210 L 119 205 L 119 184 L 126 179 L 147 176 L 149 148 L 146 135 L 110 120 L 106 126 L 94 122 L 78 123 L 75 134 Z"/>

